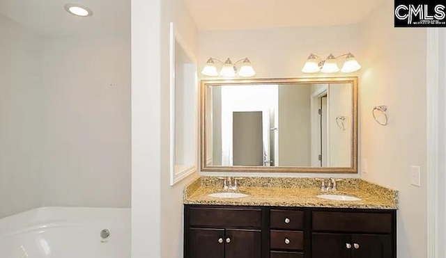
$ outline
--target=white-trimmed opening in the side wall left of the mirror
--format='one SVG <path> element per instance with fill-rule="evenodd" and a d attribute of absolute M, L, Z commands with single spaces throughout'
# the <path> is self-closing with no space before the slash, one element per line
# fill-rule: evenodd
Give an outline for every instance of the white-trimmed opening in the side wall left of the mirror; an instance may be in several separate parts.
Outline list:
<path fill-rule="evenodd" d="M 171 186 L 196 170 L 197 65 L 171 24 Z"/>

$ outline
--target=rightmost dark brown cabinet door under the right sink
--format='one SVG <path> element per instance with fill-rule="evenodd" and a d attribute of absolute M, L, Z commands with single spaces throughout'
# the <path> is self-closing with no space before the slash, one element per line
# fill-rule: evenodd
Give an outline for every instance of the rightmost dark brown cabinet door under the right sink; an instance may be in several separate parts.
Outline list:
<path fill-rule="evenodd" d="M 367 234 L 352 236 L 352 258 L 391 258 L 392 238 Z"/>

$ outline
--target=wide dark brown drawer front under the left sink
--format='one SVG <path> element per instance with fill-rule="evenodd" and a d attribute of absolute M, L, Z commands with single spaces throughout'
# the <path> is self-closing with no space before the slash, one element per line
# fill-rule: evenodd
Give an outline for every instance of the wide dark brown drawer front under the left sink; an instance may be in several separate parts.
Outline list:
<path fill-rule="evenodd" d="M 261 228 L 261 209 L 192 207 L 189 209 L 189 223 L 194 227 L 247 227 Z"/>

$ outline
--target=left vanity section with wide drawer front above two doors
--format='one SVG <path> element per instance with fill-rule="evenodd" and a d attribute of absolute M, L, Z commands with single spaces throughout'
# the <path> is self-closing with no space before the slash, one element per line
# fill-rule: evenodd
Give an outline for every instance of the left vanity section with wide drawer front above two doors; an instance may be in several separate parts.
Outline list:
<path fill-rule="evenodd" d="M 262 209 L 186 207 L 185 257 L 262 257 Z"/>

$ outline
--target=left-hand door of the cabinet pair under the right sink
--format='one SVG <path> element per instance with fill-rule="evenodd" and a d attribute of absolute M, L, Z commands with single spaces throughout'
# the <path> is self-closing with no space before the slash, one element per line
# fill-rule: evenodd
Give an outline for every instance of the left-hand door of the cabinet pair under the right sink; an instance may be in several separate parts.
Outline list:
<path fill-rule="evenodd" d="M 350 243 L 350 234 L 313 233 L 312 258 L 351 258 Z"/>

